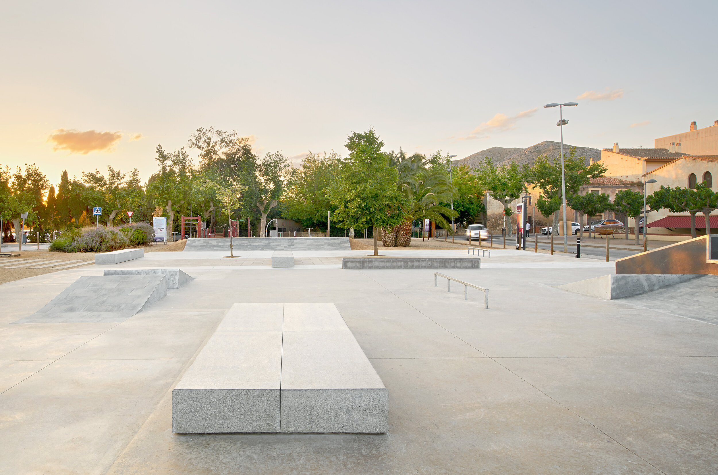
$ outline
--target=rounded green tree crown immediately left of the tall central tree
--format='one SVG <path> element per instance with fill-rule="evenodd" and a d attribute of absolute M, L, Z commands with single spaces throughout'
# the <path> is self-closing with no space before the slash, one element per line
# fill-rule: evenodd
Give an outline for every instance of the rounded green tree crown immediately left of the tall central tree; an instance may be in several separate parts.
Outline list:
<path fill-rule="evenodd" d="M 340 159 L 333 150 L 323 156 L 310 151 L 302 166 L 289 173 L 281 216 L 301 222 L 304 227 L 325 223 L 327 212 L 336 210 L 329 197 L 329 188 L 339 176 Z"/>

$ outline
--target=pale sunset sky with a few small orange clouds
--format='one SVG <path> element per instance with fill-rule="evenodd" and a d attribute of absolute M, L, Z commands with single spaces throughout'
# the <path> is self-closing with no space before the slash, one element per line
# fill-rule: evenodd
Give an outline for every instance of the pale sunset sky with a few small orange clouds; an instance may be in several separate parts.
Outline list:
<path fill-rule="evenodd" d="M 718 120 L 718 2 L 6 2 L 0 165 L 51 183 L 236 130 L 295 164 L 386 150 L 468 156 L 559 141 L 653 147 Z M 197 155 L 197 151 L 190 150 Z"/>

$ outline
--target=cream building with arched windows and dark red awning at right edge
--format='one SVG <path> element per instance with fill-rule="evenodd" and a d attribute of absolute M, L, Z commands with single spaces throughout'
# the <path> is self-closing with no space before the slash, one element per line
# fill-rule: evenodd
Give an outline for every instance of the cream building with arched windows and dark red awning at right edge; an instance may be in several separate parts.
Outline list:
<path fill-rule="evenodd" d="M 718 192 L 718 155 L 682 156 L 668 164 L 643 174 L 642 179 L 655 179 L 656 183 L 645 185 L 646 193 L 652 194 L 661 185 L 665 187 L 694 188 L 697 183 L 705 183 L 714 192 Z M 711 228 L 718 229 L 718 214 L 711 215 Z M 688 212 L 671 213 L 658 210 L 648 215 L 648 227 L 651 233 L 658 234 L 690 234 L 691 217 Z M 705 233 L 705 218 L 696 215 L 696 231 Z"/>

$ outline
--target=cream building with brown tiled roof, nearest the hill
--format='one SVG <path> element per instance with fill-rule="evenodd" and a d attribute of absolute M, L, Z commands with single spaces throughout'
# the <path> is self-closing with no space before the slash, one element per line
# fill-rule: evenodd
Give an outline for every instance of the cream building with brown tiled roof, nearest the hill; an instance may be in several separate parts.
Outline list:
<path fill-rule="evenodd" d="M 681 156 L 686 154 L 681 152 L 680 146 L 672 149 L 620 149 L 615 143 L 613 149 L 602 149 L 601 164 L 607 168 L 606 177 L 639 182 L 646 172 Z"/>

